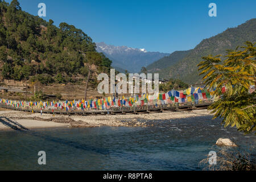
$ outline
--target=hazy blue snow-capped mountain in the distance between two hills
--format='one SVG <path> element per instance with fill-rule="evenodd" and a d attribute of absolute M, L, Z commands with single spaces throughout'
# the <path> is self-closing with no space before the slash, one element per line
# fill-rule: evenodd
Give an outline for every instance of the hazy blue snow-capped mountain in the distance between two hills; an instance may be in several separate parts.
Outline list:
<path fill-rule="evenodd" d="M 147 52 L 146 49 L 127 46 L 111 46 L 104 42 L 96 43 L 96 46 L 98 52 L 104 53 L 113 61 L 112 67 L 119 72 L 127 70 L 129 73 L 138 73 L 142 67 L 147 67 L 154 61 L 170 55 L 170 53 Z"/>

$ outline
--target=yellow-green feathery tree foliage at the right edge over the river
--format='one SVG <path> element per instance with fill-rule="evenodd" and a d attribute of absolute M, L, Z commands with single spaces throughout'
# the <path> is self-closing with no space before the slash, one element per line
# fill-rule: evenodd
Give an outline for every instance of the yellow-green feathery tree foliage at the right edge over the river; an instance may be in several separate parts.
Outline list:
<path fill-rule="evenodd" d="M 199 65 L 200 75 L 209 89 L 216 88 L 215 96 L 221 98 L 209 107 L 214 118 L 222 117 L 226 126 L 236 126 L 245 134 L 256 130 L 255 92 L 249 93 L 250 85 L 255 85 L 256 47 L 246 42 L 246 46 L 229 50 L 226 60 L 221 55 L 203 57 Z M 222 93 L 222 86 L 226 92 Z"/>

